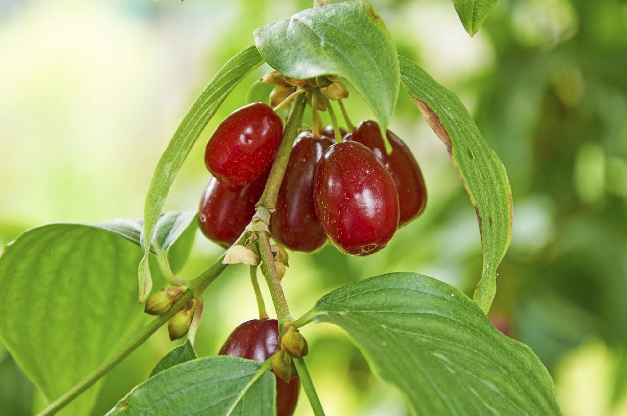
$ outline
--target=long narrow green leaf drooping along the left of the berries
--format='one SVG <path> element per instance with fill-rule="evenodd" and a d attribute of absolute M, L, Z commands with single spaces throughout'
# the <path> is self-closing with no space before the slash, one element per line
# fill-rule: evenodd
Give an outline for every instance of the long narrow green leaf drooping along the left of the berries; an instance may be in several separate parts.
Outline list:
<path fill-rule="evenodd" d="M 137 270 L 140 303 L 144 301 L 152 289 L 150 256 L 148 254 L 150 241 L 166 201 L 167 193 L 172 182 L 174 182 L 174 177 L 176 177 L 192 146 L 196 143 L 196 139 L 203 132 L 204 127 L 218 110 L 224 98 L 261 63 L 263 63 L 261 56 L 255 47 L 251 46 L 224 64 L 189 109 L 161 159 L 159 159 L 155 173 L 150 180 L 150 187 L 144 204 L 144 235 L 142 237 L 144 257 Z"/>

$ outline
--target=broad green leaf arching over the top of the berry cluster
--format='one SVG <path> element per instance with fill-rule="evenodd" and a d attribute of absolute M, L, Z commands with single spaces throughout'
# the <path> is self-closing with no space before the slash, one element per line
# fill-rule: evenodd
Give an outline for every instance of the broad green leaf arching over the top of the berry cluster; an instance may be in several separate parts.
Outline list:
<path fill-rule="evenodd" d="M 283 75 L 344 76 L 372 107 L 382 129 L 389 125 L 398 98 L 398 55 L 369 1 L 303 10 L 256 29 L 255 44 Z"/>

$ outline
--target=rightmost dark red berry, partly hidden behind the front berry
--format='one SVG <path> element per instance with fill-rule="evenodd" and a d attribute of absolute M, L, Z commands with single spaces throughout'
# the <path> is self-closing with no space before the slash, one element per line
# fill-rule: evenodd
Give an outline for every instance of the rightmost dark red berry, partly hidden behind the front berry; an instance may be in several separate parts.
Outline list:
<path fill-rule="evenodd" d="M 360 123 L 345 140 L 354 140 L 372 150 L 392 174 L 400 207 L 399 227 L 413 221 L 424 212 L 427 202 L 424 177 L 416 158 L 403 140 L 387 130 L 387 140 L 392 146 L 392 153 L 388 155 L 379 132 L 379 125 L 373 121 Z"/>

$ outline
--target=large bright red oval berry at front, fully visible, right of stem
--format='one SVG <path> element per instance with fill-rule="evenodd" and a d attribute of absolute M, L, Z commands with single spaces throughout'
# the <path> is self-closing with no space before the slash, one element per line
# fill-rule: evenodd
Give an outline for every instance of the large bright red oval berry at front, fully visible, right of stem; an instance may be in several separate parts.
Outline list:
<path fill-rule="evenodd" d="M 392 175 L 361 143 L 337 143 L 324 153 L 315 174 L 315 207 L 330 241 L 354 256 L 381 250 L 398 228 Z"/>

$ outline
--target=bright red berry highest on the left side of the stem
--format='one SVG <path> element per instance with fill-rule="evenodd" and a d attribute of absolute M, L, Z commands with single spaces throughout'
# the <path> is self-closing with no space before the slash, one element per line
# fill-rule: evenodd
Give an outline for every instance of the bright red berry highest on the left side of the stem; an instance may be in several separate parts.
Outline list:
<path fill-rule="evenodd" d="M 253 182 L 270 166 L 283 135 L 283 122 L 265 103 L 235 110 L 213 132 L 204 151 L 211 175 L 230 187 Z"/>

